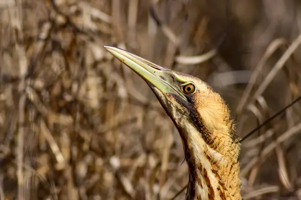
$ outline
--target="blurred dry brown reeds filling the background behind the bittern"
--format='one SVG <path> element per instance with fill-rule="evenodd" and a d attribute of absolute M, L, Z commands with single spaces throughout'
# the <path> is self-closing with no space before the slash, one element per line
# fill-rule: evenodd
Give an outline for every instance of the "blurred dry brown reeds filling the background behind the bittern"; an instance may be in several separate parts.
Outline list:
<path fill-rule="evenodd" d="M 300 95 L 300 28 L 299 0 L 1 0 L 0 199 L 173 198 L 178 131 L 102 46 L 207 81 L 243 137 Z M 300 117 L 242 142 L 244 199 L 301 199 Z"/>

